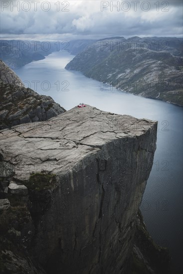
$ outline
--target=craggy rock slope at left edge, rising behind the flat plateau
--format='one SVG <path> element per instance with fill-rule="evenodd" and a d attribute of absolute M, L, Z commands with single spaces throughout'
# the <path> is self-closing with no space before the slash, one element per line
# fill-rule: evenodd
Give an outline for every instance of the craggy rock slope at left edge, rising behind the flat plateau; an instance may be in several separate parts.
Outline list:
<path fill-rule="evenodd" d="M 49 96 L 25 88 L 16 74 L 0 61 L 0 129 L 45 121 L 65 112 Z"/>

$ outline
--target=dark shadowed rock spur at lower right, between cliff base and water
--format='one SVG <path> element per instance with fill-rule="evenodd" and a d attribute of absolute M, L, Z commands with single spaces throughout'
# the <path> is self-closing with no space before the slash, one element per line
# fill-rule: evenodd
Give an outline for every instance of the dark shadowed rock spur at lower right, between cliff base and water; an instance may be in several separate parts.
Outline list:
<path fill-rule="evenodd" d="M 171 274 L 169 251 L 153 241 L 140 210 L 137 214 L 137 228 L 133 242 L 128 274 Z"/>

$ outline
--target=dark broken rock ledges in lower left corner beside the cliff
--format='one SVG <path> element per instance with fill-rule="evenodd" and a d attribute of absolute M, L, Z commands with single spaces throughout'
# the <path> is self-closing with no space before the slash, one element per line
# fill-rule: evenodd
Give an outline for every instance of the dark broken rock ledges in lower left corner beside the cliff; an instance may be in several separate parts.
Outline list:
<path fill-rule="evenodd" d="M 27 252 L 34 225 L 27 188 L 15 183 L 14 174 L 13 165 L 0 154 L 0 273 L 45 274 Z"/>

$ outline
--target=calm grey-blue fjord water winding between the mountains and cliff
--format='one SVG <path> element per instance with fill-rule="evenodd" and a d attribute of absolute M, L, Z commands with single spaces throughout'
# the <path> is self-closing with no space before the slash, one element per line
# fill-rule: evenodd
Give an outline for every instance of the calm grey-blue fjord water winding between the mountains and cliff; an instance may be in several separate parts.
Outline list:
<path fill-rule="evenodd" d="M 80 72 L 65 70 L 73 57 L 54 52 L 15 72 L 27 81 L 25 86 L 51 96 L 66 110 L 83 102 L 104 111 L 159 121 L 157 150 L 141 210 L 153 239 L 170 248 L 173 274 L 182 274 L 183 108 L 120 92 Z"/>

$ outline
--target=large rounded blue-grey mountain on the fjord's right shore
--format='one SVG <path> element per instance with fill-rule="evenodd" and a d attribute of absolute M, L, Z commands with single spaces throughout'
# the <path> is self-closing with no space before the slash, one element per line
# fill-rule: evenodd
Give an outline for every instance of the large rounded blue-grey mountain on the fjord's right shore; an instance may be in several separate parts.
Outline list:
<path fill-rule="evenodd" d="M 136 95 L 183 106 L 183 40 L 114 37 L 88 46 L 68 70 Z"/>

